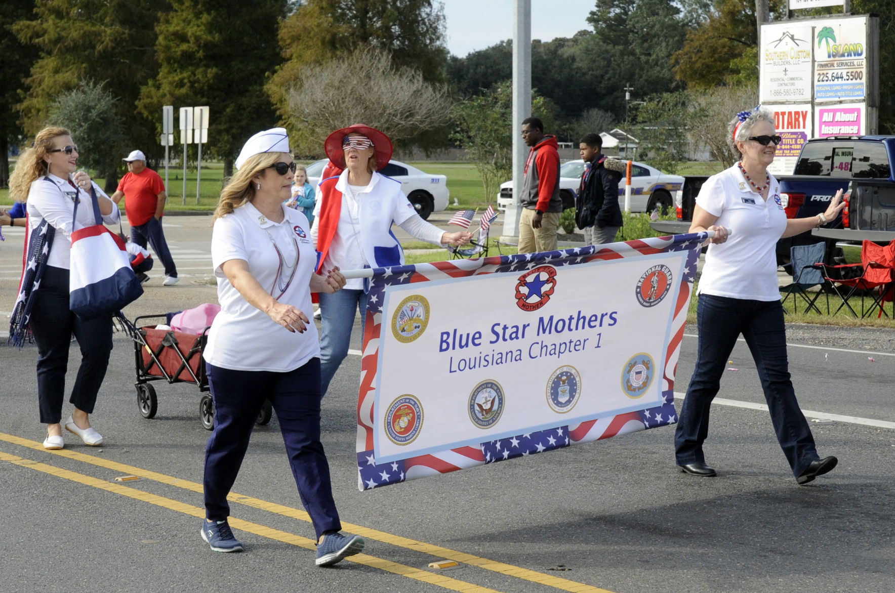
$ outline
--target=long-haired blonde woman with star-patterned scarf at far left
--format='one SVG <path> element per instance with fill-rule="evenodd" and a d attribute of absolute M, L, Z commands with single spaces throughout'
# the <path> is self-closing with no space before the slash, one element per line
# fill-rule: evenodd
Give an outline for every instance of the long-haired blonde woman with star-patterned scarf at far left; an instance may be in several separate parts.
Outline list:
<path fill-rule="evenodd" d="M 40 421 L 47 425 L 44 448 L 65 445 L 62 409 L 72 334 L 81 348 L 81 366 L 69 399 L 74 410 L 64 426 L 85 445 L 102 445 L 103 437 L 90 425 L 90 414 L 112 352 L 112 315 L 85 320 L 69 309 L 72 232 L 95 224 L 92 195 L 103 222 L 118 224 L 121 214 L 115 202 L 90 181 L 90 174 L 78 170 L 78 147 L 64 128 L 38 132 L 34 145 L 19 158 L 9 185 L 11 195 L 25 197 L 28 214 L 26 265 L 13 305 L 10 342 L 21 346 L 30 329 L 38 344 Z M 74 220 L 76 200 L 81 208 Z"/>

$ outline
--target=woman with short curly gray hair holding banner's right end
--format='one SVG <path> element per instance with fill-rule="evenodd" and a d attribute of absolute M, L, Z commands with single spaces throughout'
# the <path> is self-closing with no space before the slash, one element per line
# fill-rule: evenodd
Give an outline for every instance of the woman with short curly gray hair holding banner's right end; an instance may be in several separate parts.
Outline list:
<path fill-rule="evenodd" d="M 780 204 L 780 185 L 767 171 L 780 146 L 771 110 L 756 106 L 737 114 L 729 124 L 728 139 L 741 159 L 703 184 L 690 224 L 690 233 L 715 234 L 697 289 L 698 353 L 675 431 L 675 459 L 685 473 L 717 475 L 705 463 L 703 441 L 712 399 L 742 334 L 762 381 L 777 440 L 797 483 L 806 484 L 836 467 L 837 459 L 817 454 L 789 377 L 776 243 L 839 215 L 844 207 L 842 191 L 823 214 L 787 218 Z M 730 233 L 731 228 L 735 232 Z"/>

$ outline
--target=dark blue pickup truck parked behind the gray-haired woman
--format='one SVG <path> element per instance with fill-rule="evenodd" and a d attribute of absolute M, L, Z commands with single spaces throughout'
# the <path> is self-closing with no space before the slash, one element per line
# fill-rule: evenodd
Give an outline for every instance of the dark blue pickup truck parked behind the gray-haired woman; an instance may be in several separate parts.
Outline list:
<path fill-rule="evenodd" d="M 780 200 L 788 218 L 817 216 L 840 189 L 848 191 L 843 216 L 821 229 L 777 243 L 777 261 L 788 270 L 793 245 L 825 241 L 827 261 L 840 256 L 837 242 L 864 239 L 889 242 L 895 238 L 895 136 L 833 136 L 808 140 L 798 157 L 795 174 L 778 175 Z M 661 233 L 686 233 L 693 217 L 701 176 L 685 176 L 675 199 L 678 221 L 656 221 Z M 789 271 L 789 270 L 788 270 Z"/>

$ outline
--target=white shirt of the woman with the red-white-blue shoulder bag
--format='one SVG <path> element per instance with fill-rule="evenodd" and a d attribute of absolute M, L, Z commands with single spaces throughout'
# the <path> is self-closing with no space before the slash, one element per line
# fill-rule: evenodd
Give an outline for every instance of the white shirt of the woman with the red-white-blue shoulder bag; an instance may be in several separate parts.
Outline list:
<path fill-rule="evenodd" d="M 97 196 L 108 198 L 106 192 L 99 189 L 96 183 L 91 183 Z M 77 228 L 97 224 L 93 216 L 93 205 L 90 203 L 90 191 L 75 189 L 68 180 L 54 174 L 47 174 L 46 177 L 39 177 L 31 182 L 28 200 L 25 203 L 30 228 L 36 229 L 46 220 L 57 231 L 53 238 L 53 247 L 47 257 L 47 266 L 62 267 L 66 270 L 72 267 L 72 231 L 76 230 L 72 214 L 76 196 L 81 199 L 78 204 Z M 121 213 L 115 202 L 112 203 L 112 213 L 103 216 L 103 222 L 106 224 L 121 222 Z"/>

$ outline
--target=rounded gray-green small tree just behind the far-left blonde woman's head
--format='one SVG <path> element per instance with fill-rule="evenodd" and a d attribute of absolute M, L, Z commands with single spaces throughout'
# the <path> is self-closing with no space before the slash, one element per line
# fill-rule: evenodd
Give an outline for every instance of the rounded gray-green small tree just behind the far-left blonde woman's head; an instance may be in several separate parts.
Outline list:
<path fill-rule="evenodd" d="M 104 190 L 111 194 L 117 186 L 115 170 L 121 163 L 125 139 L 118 99 L 104 87 L 103 83 L 81 80 L 76 88 L 56 97 L 47 123 L 72 132 L 72 140 L 78 144 L 78 165 L 105 177 Z M 113 180 L 111 184 L 109 180 Z"/>

